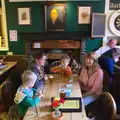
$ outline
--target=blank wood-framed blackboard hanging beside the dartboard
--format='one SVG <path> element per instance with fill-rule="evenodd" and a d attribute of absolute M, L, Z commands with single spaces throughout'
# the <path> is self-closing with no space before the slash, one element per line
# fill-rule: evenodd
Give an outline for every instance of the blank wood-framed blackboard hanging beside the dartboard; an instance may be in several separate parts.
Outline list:
<path fill-rule="evenodd" d="M 92 33 L 91 37 L 104 37 L 106 29 L 106 15 L 102 13 L 92 14 Z"/>

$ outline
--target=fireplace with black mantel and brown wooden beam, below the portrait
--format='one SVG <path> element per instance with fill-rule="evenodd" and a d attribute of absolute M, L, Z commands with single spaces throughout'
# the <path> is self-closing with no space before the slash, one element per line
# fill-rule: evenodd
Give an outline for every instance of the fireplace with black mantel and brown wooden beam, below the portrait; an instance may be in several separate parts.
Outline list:
<path fill-rule="evenodd" d="M 35 51 L 43 50 L 48 53 L 48 59 L 60 59 L 63 54 L 72 55 L 83 64 L 85 55 L 85 40 L 87 31 L 75 32 L 43 32 L 20 33 L 26 43 L 26 54 L 31 56 Z"/>

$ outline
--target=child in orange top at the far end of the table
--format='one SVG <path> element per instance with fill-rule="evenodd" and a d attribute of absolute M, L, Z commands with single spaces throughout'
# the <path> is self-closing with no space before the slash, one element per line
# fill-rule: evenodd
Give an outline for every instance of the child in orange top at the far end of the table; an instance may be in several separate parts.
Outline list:
<path fill-rule="evenodd" d="M 70 57 L 69 56 L 62 56 L 60 61 L 61 61 L 61 64 L 58 66 L 52 67 L 51 71 L 63 74 L 67 77 L 71 77 L 72 71 L 71 71 L 71 68 L 69 67 Z"/>

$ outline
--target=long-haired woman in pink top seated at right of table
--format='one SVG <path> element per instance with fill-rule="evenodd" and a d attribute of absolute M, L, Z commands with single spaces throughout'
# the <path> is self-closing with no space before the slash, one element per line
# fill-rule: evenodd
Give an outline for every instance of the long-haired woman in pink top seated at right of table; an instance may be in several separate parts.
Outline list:
<path fill-rule="evenodd" d="M 95 101 L 102 92 L 103 71 L 97 63 L 95 53 L 88 53 L 79 76 L 84 105 Z"/>

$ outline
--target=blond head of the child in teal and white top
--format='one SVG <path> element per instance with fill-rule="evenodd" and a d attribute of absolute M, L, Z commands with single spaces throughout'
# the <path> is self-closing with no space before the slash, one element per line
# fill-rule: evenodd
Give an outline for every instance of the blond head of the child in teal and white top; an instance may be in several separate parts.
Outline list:
<path fill-rule="evenodd" d="M 35 82 L 36 79 L 37 79 L 36 74 L 31 70 L 26 70 L 22 74 L 22 84 L 28 85 L 30 82 Z"/>

